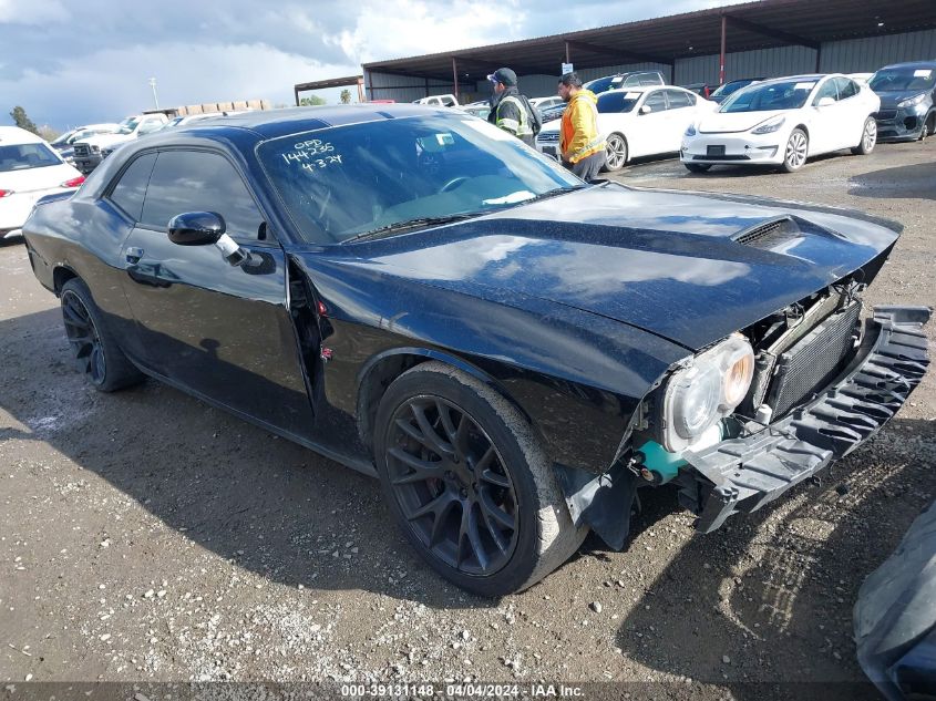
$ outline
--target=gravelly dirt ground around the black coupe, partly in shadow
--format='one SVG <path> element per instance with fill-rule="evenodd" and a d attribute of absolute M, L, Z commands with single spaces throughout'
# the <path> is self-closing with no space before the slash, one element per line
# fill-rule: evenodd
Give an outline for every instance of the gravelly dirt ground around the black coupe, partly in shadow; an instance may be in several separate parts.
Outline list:
<path fill-rule="evenodd" d="M 936 140 L 794 175 L 662 161 L 618 177 L 897 219 L 867 300 L 936 300 Z M 930 372 L 821 484 L 709 536 L 655 492 L 626 551 L 589 539 L 543 584 L 484 600 L 421 565 L 376 482 L 154 381 L 88 389 L 21 240 L 0 245 L 0 679 L 20 687 L 616 680 L 754 699 L 762 688 L 736 682 L 862 681 L 857 589 L 936 496 Z"/>

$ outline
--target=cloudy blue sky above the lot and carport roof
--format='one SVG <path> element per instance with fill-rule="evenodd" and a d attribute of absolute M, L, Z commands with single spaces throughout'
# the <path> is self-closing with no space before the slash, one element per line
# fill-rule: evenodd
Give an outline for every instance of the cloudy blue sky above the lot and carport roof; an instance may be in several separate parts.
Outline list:
<path fill-rule="evenodd" d="M 296 83 L 356 75 L 370 61 L 730 1 L 0 0 L 0 124 L 12 124 L 17 105 L 58 131 L 120 121 L 154 106 L 151 78 L 161 107 L 259 99 L 291 105 Z M 319 94 L 335 103 L 339 92 Z"/>

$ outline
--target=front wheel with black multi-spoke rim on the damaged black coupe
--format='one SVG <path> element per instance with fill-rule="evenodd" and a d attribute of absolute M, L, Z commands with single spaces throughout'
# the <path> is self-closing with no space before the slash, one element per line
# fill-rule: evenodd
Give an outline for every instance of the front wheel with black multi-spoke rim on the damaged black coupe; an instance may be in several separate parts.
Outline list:
<path fill-rule="evenodd" d="M 578 549 L 551 462 L 520 412 L 439 362 L 400 375 L 378 410 L 374 456 L 407 539 L 482 596 L 535 584 Z"/>

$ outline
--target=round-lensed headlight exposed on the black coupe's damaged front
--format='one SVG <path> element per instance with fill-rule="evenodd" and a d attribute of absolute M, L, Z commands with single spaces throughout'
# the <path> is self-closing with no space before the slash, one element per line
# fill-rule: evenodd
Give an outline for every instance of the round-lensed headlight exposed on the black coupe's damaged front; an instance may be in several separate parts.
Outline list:
<path fill-rule="evenodd" d="M 741 336 L 732 336 L 696 355 L 673 373 L 664 391 L 660 443 L 679 452 L 748 394 L 754 377 L 754 351 Z"/>

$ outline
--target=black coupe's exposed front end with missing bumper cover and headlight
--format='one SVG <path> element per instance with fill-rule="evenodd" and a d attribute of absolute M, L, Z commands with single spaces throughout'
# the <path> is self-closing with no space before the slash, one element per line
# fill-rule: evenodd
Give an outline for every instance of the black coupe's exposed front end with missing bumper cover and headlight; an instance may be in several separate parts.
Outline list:
<path fill-rule="evenodd" d="M 607 473 L 559 467 L 573 518 L 620 549 L 637 487 L 670 483 L 710 533 L 874 435 L 929 362 L 929 308 L 876 307 L 862 322 L 862 280 L 883 259 L 671 368 Z"/>

